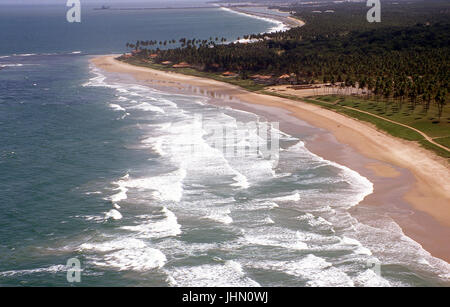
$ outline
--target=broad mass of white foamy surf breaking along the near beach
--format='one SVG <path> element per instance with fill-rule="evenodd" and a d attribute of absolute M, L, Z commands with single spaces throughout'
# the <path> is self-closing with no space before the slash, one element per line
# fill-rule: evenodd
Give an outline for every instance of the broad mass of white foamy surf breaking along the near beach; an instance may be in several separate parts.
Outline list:
<path fill-rule="evenodd" d="M 181 96 L 172 99 L 179 103 L 180 108 L 178 109 L 177 104 L 171 101 L 171 98 L 146 87 L 132 88 L 126 84 L 106 84 L 100 75 L 96 77 L 98 79 L 90 80 L 90 82 L 117 90 L 117 101 L 123 108 L 137 107 L 145 102 L 164 110 L 165 113 L 159 112 L 158 116 L 149 117 L 150 119 L 157 118 L 156 121 L 151 124 L 138 123 L 138 127 L 143 132 L 142 143 L 151 146 L 161 155 L 158 157 L 158 162 L 163 161 L 178 170 L 162 174 L 158 174 L 160 169 L 156 174 L 152 170 L 150 173 L 152 176 L 126 176 L 114 182 L 116 192 L 110 197 L 112 201 L 123 201 L 130 198 L 128 200 L 130 203 L 134 201 L 147 203 L 149 199 L 153 198 L 155 203 L 167 201 L 164 203 L 167 207 L 156 214 L 144 212 L 137 215 L 134 221 L 127 219 L 127 226 L 116 224 L 115 226 L 120 228 L 121 234 L 126 233 L 130 236 L 123 239 L 127 244 L 119 243 L 116 240 L 115 242 L 94 244 L 95 248 L 84 246 L 83 251 L 90 255 L 89 259 L 93 263 L 119 270 L 144 271 L 149 268 L 162 267 L 166 262 L 164 254 L 168 257 L 176 255 L 174 257 L 183 258 L 183 261 L 187 261 L 185 263 L 192 264 L 190 266 L 184 263 L 184 266 L 181 267 L 165 268 L 170 283 L 180 286 L 254 285 L 256 282 L 248 279 L 239 263 L 242 263 L 244 267 L 251 266 L 253 263 L 259 269 L 284 272 L 309 286 L 388 285 L 386 280 L 374 275 L 371 270 L 365 268 L 359 272 L 351 270 L 348 272 L 347 270 L 348 267 L 353 268 L 355 264 L 360 265 L 366 260 L 374 259 L 375 257 L 371 256 L 372 253 L 377 258 L 378 254 L 384 253 L 389 254 L 389 257 L 386 258 L 395 259 L 394 256 L 399 255 L 398 250 L 400 249 L 397 245 L 401 244 L 402 255 L 399 263 L 408 266 L 410 263 L 414 263 L 415 266 L 415 262 L 417 262 L 417 267 L 426 272 L 432 270 L 439 273 L 443 279 L 448 277 L 446 275 L 448 274 L 447 267 L 433 260 L 431 255 L 422 254 L 420 246 L 410 244 L 403 237 L 389 238 L 381 242 L 380 238 L 388 237 L 385 233 L 387 229 L 382 229 L 383 233 L 378 233 L 378 230 L 366 229 L 358 220 L 350 216 L 347 209 L 359 203 L 373 189 L 372 184 L 358 173 L 313 155 L 302 142 L 298 142 L 295 146 L 289 147 L 282 155 L 292 160 L 290 165 L 294 165 L 295 169 L 306 171 L 299 174 L 288 165 L 284 169 L 281 167 L 276 169 L 282 175 L 275 174 L 274 164 L 271 160 L 263 160 L 258 156 L 236 159 L 212 146 L 215 139 L 209 133 L 208 127 L 216 125 L 244 131 L 236 125 L 233 117 L 218 114 L 217 110 L 209 107 L 198 111 L 201 106 L 193 104 L 195 101 L 192 99 Z M 194 118 L 195 112 L 202 112 L 204 117 L 202 119 Z M 230 112 L 233 111 L 227 111 L 232 114 Z M 146 114 L 137 111 L 133 112 L 133 115 L 134 113 L 139 116 Z M 245 117 L 245 114 L 240 116 Z M 257 116 L 256 118 L 258 119 Z M 202 124 L 204 125 L 202 126 Z M 198 129 L 192 131 L 190 129 L 192 125 Z M 245 132 L 247 135 L 238 138 L 236 145 L 251 147 L 257 140 L 257 136 L 254 131 L 247 130 Z M 287 134 L 282 132 L 279 134 L 287 141 L 294 141 L 294 138 L 290 138 Z M 196 149 L 199 149 L 194 154 L 191 154 L 191 145 L 195 145 Z M 316 170 L 319 173 L 322 170 L 327 172 L 331 170 L 331 175 L 327 176 L 327 173 L 317 175 Z M 257 190 L 265 188 L 266 184 L 270 187 L 271 180 L 274 182 L 276 180 L 286 181 L 287 184 L 290 184 L 291 180 L 296 178 L 298 178 L 298 183 L 314 187 L 303 190 L 295 186 L 291 192 L 277 193 L 273 198 L 265 195 L 264 199 L 245 200 L 245 197 L 242 197 L 242 201 L 239 198 L 241 196 L 239 191 L 232 188 L 236 186 L 245 189 L 251 186 Z M 324 191 L 322 187 L 317 188 L 315 185 L 338 188 L 336 191 Z M 211 187 L 214 190 L 209 190 Z M 227 193 L 233 193 L 232 197 L 224 199 L 222 194 L 220 194 L 222 196 L 214 194 L 215 192 L 221 193 L 222 189 Z M 234 194 L 234 192 L 238 193 Z M 274 201 L 279 202 L 283 207 L 290 205 L 287 201 L 297 202 L 292 212 L 298 209 L 298 216 L 293 214 L 290 217 L 284 217 L 284 209 L 274 210 L 278 207 Z M 150 202 L 152 209 L 154 209 L 154 205 Z M 143 211 L 146 208 L 148 209 L 148 207 L 142 206 Z M 250 215 L 253 213 L 251 211 L 255 211 L 254 214 Z M 183 236 L 179 236 L 181 225 L 178 223 L 177 216 L 181 221 L 187 218 L 187 221 L 198 222 L 194 227 L 197 225 L 208 227 L 205 231 L 211 234 L 214 234 L 216 229 L 225 228 L 227 231 L 232 231 L 238 238 L 219 244 L 216 242 L 184 242 Z M 274 223 L 271 217 L 277 223 Z M 252 220 L 252 218 L 257 220 Z M 211 223 L 207 220 L 218 223 Z M 296 230 L 297 226 L 302 230 Z M 194 230 L 189 223 L 185 227 L 187 228 L 186 230 L 183 228 L 185 233 Z M 383 226 L 379 227 L 383 228 Z M 398 233 L 396 229 L 388 232 Z M 155 238 L 157 240 L 153 240 Z M 148 243 L 141 239 L 150 239 L 155 242 L 149 247 Z M 386 243 L 388 241 L 395 242 L 395 246 Z M 114 249 L 107 244 L 113 245 Z M 374 246 L 376 247 L 374 248 Z M 233 252 L 234 255 L 234 252 L 239 251 L 242 247 L 250 247 L 258 252 L 252 254 L 251 261 L 248 262 L 247 255 L 239 255 L 234 264 L 222 263 L 221 258 L 226 257 L 220 253 Z M 403 248 L 407 252 L 403 253 Z M 144 257 L 145 255 L 142 256 L 145 253 L 142 250 L 149 252 L 148 259 Z M 194 263 L 198 263 L 195 261 L 199 256 L 204 259 L 203 257 L 208 255 L 210 250 L 214 250 L 214 254 L 219 253 L 220 257 L 211 258 L 212 263 L 209 264 L 194 265 Z M 419 256 L 412 252 L 417 250 L 419 250 Z M 259 253 L 260 251 L 261 253 Z M 300 256 L 298 261 L 291 261 L 292 258 L 285 259 L 279 256 L 292 253 L 296 255 L 315 253 L 321 257 L 311 255 L 301 258 Z M 342 254 L 343 256 L 336 256 L 336 261 L 333 258 L 335 256 L 322 258 L 322 255 L 327 254 Z M 145 265 L 139 263 L 141 256 L 144 257 Z M 269 258 L 271 256 L 280 258 Z M 195 260 L 190 257 L 195 257 Z M 385 263 L 385 259 L 381 260 Z M 333 265 L 332 262 L 336 265 Z M 387 261 L 386 263 L 396 262 Z M 219 280 L 219 277 L 216 276 L 223 276 L 223 278 Z"/>

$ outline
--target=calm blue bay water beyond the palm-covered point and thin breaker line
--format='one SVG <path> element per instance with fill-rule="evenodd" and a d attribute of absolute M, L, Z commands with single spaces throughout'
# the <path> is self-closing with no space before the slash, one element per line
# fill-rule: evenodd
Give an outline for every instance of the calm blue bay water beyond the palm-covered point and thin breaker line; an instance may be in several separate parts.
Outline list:
<path fill-rule="evenodd" d="M 82 22 L 68 23 L 64 5 L 2 6 L 0 55 L 73 51 L 120 53 L 127 42 L 136 40 L 178 41 L 181 37 L 209 39 L 216 36 L 233 40 L 274 26 L 214 8 L 141 11 L 93 8 L 83 5 Z"/>

